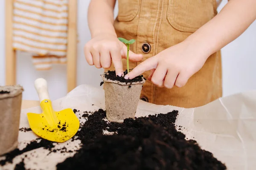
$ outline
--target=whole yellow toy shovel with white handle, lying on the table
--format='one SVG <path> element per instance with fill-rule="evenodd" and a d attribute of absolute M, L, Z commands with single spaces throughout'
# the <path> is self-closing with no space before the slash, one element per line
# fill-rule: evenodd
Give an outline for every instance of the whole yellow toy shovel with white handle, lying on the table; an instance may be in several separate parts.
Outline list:
<path fill-rule="evenodd" d="M 52 142 L 65 142 L 72 138 L 79 129 L 79 119 L 71 108 L 54 111 L 49 98 L 47 81 L 35 80 L 43 113 L 27 113 L 30 128 L 38 136 Z"/>

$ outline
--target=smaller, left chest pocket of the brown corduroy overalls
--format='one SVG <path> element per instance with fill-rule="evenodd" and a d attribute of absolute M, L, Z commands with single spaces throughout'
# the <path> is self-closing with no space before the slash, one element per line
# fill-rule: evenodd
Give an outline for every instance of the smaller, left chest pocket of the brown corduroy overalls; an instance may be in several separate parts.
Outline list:
<path fill-rule="evenodd" d="M 139 11 L 140 0 L 118 0 L 118 15 L 119 21 L 133 20 Z"/>

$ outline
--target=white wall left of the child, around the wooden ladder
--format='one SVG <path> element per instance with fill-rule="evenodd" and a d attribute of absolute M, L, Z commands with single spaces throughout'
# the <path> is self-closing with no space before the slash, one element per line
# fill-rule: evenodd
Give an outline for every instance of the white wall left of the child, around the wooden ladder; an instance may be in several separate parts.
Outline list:
<path fill-rule="evenodd" d="M 103 69 L 87 65 L 84 58 L 84 44 L 90 40 L 90 31 L 87 25 L 87 8 L 89 0 L 78 0 L 78 60 L 77 60 L 77 85 L 89 84 L 100 87 L 102 81 L 100 74 Z M 4 56 L 4 0 L 0 0 L 0 85 L 5 84 L 5 56 Z M 117 10 L 115 9 L 115 16 Z M 49 71 L 36 71 L 31 60 L 31 55 L 18 52 L 17 54 L 17 84 L 23 86 L 23 99 L 37 100 L 34 81 L 38 77 L 47 79 L 49 95 L 52 100 L 63 97 L 67 93 L 67 69 L 65 65 L 56 65 Z"/>

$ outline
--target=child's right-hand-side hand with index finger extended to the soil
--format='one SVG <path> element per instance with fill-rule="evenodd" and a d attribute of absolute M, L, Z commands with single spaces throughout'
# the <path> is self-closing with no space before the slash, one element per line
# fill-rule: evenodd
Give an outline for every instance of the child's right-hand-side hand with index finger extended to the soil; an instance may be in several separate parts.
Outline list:
<path fill-rule="evenodd" d="M 188 79 L 202 68 L 209 57 L 191 44 L 184 41 L 167 48 L 137 65 L 125 78 L 133 79 L 151 70 L 148 80 L 158 87 L 184 86 Z"/>

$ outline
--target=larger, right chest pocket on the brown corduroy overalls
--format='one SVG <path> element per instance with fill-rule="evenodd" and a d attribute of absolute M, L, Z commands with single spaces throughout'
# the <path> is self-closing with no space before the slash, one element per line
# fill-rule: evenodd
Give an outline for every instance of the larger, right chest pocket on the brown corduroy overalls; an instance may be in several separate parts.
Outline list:
<path fill-rule="evenodd" d="M 216 0 L 169 0 L 167 20 L 183 32 L 195 32 L 211 20 L 216 12 Z"/>

